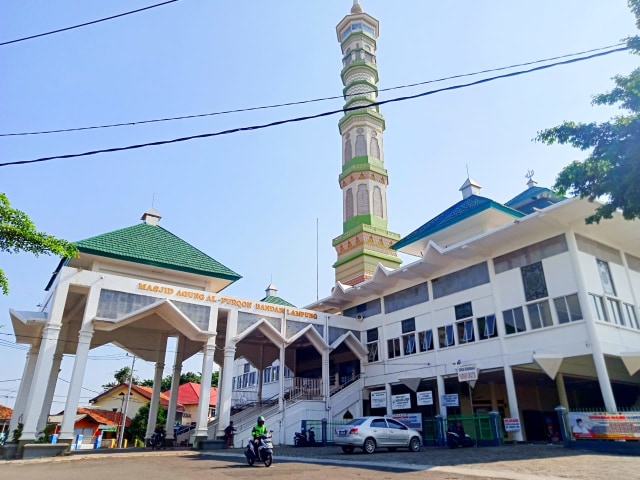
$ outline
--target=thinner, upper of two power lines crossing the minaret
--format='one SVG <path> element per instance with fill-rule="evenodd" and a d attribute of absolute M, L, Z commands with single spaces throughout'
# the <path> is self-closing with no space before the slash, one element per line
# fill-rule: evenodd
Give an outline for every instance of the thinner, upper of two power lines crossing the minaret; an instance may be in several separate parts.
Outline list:
<path fill-rule="evenodd" d="M 448 77 L 436 78 L 434 80 L 426 80 L 424 82 L 409 83 L 409 84 L 405 84 L 405 85 L 398 85 L 398 86 L 395 86 L 395 87 L 381 88 L 381 89 L 378 89 L 378 90 L 370 90 L 370 91 L 360 92 L 360 93 L 358 93 L 356 95 L 360 96 L 360 95 L 367 95 L 369 93 L 388 92 L 388 91 L 392 91 L 392 90 L 400 90 L 400 89 L 404 89 L 404 88 L 411 88 L 411 87 L 418 87 L 418 86 L 421 86 L 421 85 L 428 85 L 430 83 L 443 82 L 445 80 L 454 80 L 456 78 L 472 77 L 472 76 L 475 76 L 475 75 L 481 75 L 483 73 L 499 72 L 499 71 L 503 71 L 503 70 L 509 70 L 511 68 L 525 67 L 525 66 L 528 66 L 528 65 L 535 65 L 537 63 L 544 63 L 544 62 L 550 62 L 550 61 L 553 61 L 553 60 L 559 60 L 561 58 L 576 57 L 578 55 L 584 55 L 585 53 L 599 52 L 599 51 L 602 51 L 602 50 L 608 50 L 610 48 L 619 47 L 621 45 L 625 45 L 625 43 L 624 42 L 623 43 L 616 43 L 615 45 L 608 45 L 606 47 L 600 47 L 600 48 L 592 48 L 590 50 L 584 50 L 582 52 L 568 53 L 566 55 L 559 55 L 559 56 L 556 56 L 556 57 L 543 58 L 543 59 L 540 59 L 540 60 L 533 60 L 533 61 L 524 62 L 524 63 L 516 63 L 516 64 L 513 64 L 513 65 L 508 65 L 506 67 L 490 68 L 490 69 L 486 69 L 486 70 L 479 70 L 477 72 L 462 73 L 462 74 L 458 74 L 458 75 L 451 75 L 451 76 L 448 76 Z M 212 116 L 217 116 L 217 115 L 227 115 L 227 114 L 231 114 L 231 113 L 243 113 L 243 112 L 252 112 L 252 111 L 256 111 L 256 110 L 267 110 L 267 109 L 272 109 L 272 108 L 290 107 L 290 106 L 294 106 L 294 105 L 303 105 L 303 104 L 307 104 L 307 103 L 316 103 L 316 102 L 324 102 L 324 101 L 327 101 L 327 100 L 336 100 L 336 99 L 339 99 L 339 98 L 345 98 L 345 97 L 343 95 L 336 95 L 336 96 L 332 96 L 332 97 L 320 97 L 320 98 L 314 98 L 314 99 L 311 99 L 311 100 L 299 100 L 299 101 L 293 101 L 293 102 L 276 103 L 276 104 L 272 104 L 272 105 L 262 105 L 262 106 L 258 106 L 258 107 L 238 108 L 238 109 L 234 109 L 234 110 L 223 110 L 223 111 L 219 111 L 219 112 L 199 113 L 199 114 L 194 114 L 194 115 L 182 115 L 182 116 L 177 116 L 177 117 L 155 118 L 155 119 L 151 119 L 151 120 L 137 120 L 137 121 L 129 121 L 129 122 L 111 123 L 111 124 L 105 124 L 105 125 L 92 125 L 92 126 L 88 126 L 88 127 L 62 128 L 62 129 L 57 129 L 57 130 L 41 130 L 41 131 L 35 131 L 35 132 L 0 133 L 0 137 L 15 137 L 15 136 L 25 136 L 25 135 L 45 135 L 45 134 L 50 134 L 50 133 L 68 133 L 68 132 L 78 132 L 78 131 L 83 131 L 83 130 L 96 130 L 96 129 L 102 129 L 102 128 L 114 128 L 114 127 L 126 127 L 126 126 L 134 126 L 134 125 L 144 125 L 144 124 L 147 124 L 147 123 L 171 122 L 171 121 L 175 121 L 175 120 L 187 120 L 187 119 L 192 119 L 192 118 L 202 118 L 202 117 L 212 117 Z M 348 98 L 348 96 L 346 98 Z"/>

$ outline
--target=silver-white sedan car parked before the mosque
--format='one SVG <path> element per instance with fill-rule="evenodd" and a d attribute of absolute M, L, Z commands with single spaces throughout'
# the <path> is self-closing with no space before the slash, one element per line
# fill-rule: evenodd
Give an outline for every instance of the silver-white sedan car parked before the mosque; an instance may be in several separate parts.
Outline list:
<path fill-rule="evenodd" d="M 418 452 L 422 447 L 420 432 L 386 417 L 354 418 L 335 428 L 333 440 L 344 453 L 352 453 L 356 448 L 366 453 L 373 453 L 376 448 L 388 448 L 391 452 L 408 448 L 410 452 Z"/>

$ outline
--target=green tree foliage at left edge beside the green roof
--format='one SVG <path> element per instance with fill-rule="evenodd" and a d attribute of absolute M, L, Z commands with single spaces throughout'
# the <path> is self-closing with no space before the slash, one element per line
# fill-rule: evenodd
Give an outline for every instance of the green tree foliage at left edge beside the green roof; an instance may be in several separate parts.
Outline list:
<path fill-rule="evenodd" d="M 78 249 L 71 242 L 38 232 L 29 216 L 12 208 L 7 196 L 0 193 L 0 252 L 31 252 L 36 257 L 53 253 L 71 258 L 78 254 Z M 9 281 L 2 269 L 0 289 L 4 295 L 9 293 Z"/>

